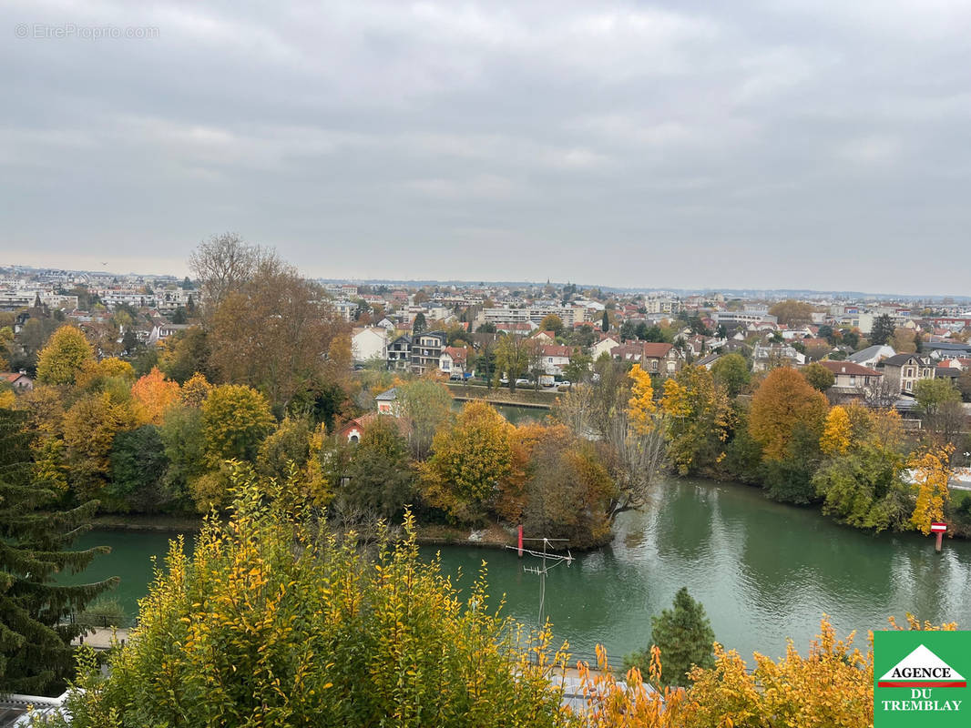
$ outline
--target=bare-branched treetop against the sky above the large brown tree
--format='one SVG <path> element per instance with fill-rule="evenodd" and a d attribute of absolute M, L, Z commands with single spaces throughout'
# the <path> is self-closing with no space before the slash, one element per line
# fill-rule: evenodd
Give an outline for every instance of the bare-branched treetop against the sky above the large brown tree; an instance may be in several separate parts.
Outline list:
<path fill-rule="evenodd" d="M 188 264 L 200 283 L 204 314 L 214 314 L 226 294 L 250 281 L 266 257 L 273 257 L 273 253 L 244 242 L 236 233 L 202 241 L 189 255 Z"/>

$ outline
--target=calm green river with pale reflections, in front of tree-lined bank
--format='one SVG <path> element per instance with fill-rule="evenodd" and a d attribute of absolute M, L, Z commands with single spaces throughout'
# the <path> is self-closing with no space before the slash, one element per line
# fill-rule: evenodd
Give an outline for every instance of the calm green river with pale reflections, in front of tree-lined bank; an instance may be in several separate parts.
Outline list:
<path fill-rule="evenodd" d="M 113 552 L 84 580 L 120 576 L 117 597 L 134 614 L 151 579 L 150 557 L 164 554 L 167 537 L 97 531 L 80 546 L 97 544 Z M 485 559 L 493 598 L 505 594 L 508 613 L 535 623 L 539 578 L 522 569 L 535 561 L 470 546 L 440 550 L 446 572 L 466 575 L 460 583 Z M 746 658 L 753 650 L 782 656 L 787 637 L 804 651 L 823 612 L 841 634 L 858 630 L 865 648 L 866 630 L 884 628 L 890 614 L 971 627 L 971 542 L 946 541 L 938 555 L 930 537 L 874 536 L 744 485 L 674 480 L 658 487 L 646 512 L 621 515 L 612 546 L 552 569 L 546 613 L 576 653 L 592 655 L 601 643 L 614 662 L 647 643 L 651 616 L 682 586 L 704 604 L 720 643 Z"/>

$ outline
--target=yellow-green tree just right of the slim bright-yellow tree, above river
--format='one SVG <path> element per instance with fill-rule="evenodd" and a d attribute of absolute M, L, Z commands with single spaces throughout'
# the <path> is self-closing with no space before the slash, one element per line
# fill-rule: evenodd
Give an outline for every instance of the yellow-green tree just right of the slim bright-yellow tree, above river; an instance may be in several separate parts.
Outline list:
<path fill-rule="evenodd" d="M 668 457 L 682 475 L 720 462 L 731 407 L 711 372 L 686 366 L 665 380 L 661 408 L 667 415 Z"/>

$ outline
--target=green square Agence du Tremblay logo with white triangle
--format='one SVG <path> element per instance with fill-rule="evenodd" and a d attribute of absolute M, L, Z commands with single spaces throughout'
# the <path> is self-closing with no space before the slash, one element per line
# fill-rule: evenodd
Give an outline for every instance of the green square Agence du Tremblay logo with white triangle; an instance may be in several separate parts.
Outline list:
<path fill-rule="evenodd" d="M 874 728 L 971 726 L 971 632 L 875 632 Z"/>

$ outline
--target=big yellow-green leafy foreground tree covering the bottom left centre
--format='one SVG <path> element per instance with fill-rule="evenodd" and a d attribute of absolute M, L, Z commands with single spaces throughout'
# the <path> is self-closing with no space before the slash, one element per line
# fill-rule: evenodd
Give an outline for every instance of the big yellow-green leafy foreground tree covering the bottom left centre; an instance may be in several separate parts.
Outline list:
<path fill-rule="evenodd" d="M 269 483 L 233 479 L 228 522 L 207 520 L 191 557 L 173 544 L 106 674 L 83 662 L 72 728 L 565 728 L 549 633 L 500 618 L 485 581 L 460 598 L 411 519 L 372 566 L 267 506 Z"/>

